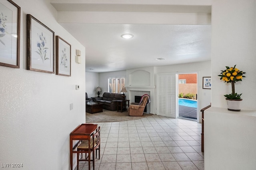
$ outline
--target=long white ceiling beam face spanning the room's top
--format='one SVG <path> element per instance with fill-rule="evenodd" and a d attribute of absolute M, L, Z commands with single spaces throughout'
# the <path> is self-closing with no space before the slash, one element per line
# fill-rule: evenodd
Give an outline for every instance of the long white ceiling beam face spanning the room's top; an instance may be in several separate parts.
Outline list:
<path fill-rule="evenodd" d="M 58 23 L 210 25 L 208 13 L 58 12 Z"/>

